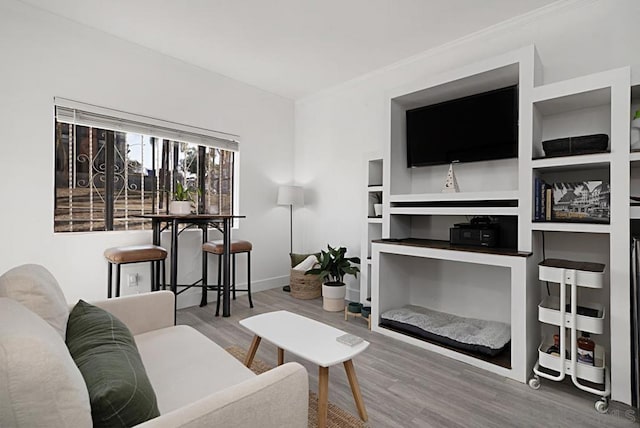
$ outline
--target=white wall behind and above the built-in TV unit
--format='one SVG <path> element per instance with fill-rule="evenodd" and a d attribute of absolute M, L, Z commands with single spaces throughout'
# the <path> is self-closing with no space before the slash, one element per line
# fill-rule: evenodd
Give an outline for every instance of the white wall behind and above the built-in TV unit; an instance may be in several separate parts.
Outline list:
<path fill-rule="evenodd" d="M 535 44 L 550 83 L 625 65 L 640 81 L 637 0 L 559 2 L 296 103 L 295 177 L 313 197 L 296 226 L 304 250 L 327 243 L 360 252 L 365 153 L 382 151 L 387 92 L 415 80 Z M 444 180 L 444 176 L 443 176 Z M 355 283 L 351 284 L 356 288 Z"/>

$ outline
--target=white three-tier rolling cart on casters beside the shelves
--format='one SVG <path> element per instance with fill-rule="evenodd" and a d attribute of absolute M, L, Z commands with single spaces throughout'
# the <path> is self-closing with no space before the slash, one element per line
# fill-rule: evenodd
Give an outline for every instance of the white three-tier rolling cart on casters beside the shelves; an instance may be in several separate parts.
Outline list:
<path fill-rule="evenodd" d="M 601 397 L 595 403 L 599 413 L 607 412 L 611 395 L 611 380 L 605 361 L 605 350 L 596 345 L 593 366 L 578 362 L 577 332 L 601 334 L 604 330 L 605 309 L 596 303 L 584 303 L 578 308 L 578 287 L 602 288 L 604 271 L 605 265 L 600 263 L 560 259 L 547 259 L 540 262 L 538 278 L 541 281 L 560 284 L 559 297 L 549 296 L 538 305 L 538 320 L 558 326 L 560 329 L 560 352 L 559 356 L 548 354 L 547 350 L 553 345 L 553 339 L 543 339 L 538 348 L 538 361 L 533 368 L 534 375 L 529 379 L 529 386 L 539 389 L 541 377 L 561 381 L 566 375 L 570 375 L 577 388 Z M 567 310 L 567 286 L 571 289 L 569 304 L 571 310 Z M 567 346 L 567 335 L 569 335 L 569 346 Z M 570 352 L 568 357 L 567 351 Z M 558 374 L 550 374 L 548 371 L 541 370 L 541 367 Z M 604 389 L 587 386 L 580 380 L 604 385 Z"/>

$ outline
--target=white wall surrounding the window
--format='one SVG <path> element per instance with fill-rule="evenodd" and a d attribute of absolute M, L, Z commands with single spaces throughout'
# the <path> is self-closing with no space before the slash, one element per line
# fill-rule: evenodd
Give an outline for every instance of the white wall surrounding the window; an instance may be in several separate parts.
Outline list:
<path fill-rule="evenodd" d="M 0 54 L 0 272 L 43 264 L 67 300 L 98 299 L 106 297 L 104 249 L 151 242 L 150 231 L 53 233 L 53 97 L 61 96 L 240 135 L 239 213 L 247 218 L 234 237 L 253 242 L 254 289 L 288 282 L 289 213 L 275 201 L 277 185 L 293 175 L 290 100 L 14 0 L 0 3 Z M 199 239 L 181 237 L 181 283 L 200 277 Z M 126 268 L 143 284 L 123 293 L 145 291 L 148 265 Z M 198 301 L 196 294 L 179 304 Z"/>

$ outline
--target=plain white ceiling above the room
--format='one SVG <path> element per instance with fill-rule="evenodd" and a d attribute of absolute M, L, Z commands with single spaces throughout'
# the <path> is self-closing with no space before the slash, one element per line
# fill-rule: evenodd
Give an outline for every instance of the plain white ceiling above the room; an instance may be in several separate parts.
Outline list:
<path fill-rule="evenodd" d="M 23 0 L 299 99 L 556 0 Z"/>

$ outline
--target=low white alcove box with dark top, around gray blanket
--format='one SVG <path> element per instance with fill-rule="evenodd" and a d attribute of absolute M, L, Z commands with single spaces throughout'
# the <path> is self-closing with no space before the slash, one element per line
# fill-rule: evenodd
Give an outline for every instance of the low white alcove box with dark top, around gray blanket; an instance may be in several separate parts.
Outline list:
<path fill-rule="evenodd" d="M 528 253 L 450 248 L 447 241 L 378 241 L 373 244 L 372 329 L 416 346 L 521 380 L 527 347 L 522 322 Z M 497 356 L 463 351 L 379 325 L 380 314 L 405 305 L 498 321 L 511 326 L 511 346 Z"/>

